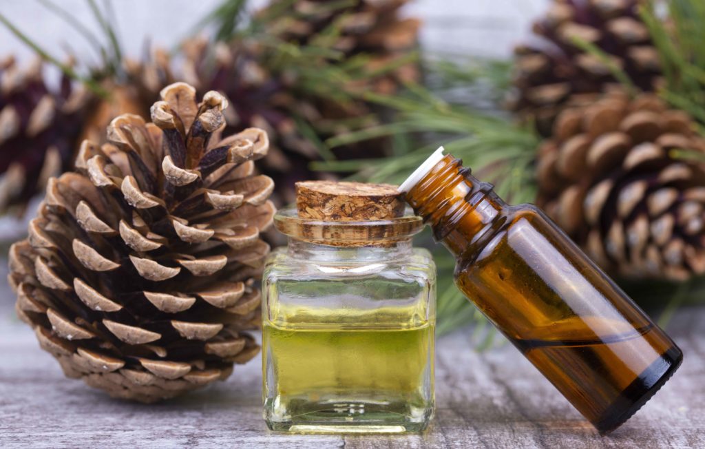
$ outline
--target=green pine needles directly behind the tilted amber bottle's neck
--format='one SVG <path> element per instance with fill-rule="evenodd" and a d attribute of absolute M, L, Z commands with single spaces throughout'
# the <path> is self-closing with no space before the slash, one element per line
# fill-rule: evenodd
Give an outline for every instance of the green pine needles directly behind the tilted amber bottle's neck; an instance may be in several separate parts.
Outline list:
<path fill-rule="evenodd" d="M 505 66 L 508 70 L 508 66 Z M 445 70 L 445 69 L 443 69 Z M 455 82 L 449 70 L 448 84 Z M 465 73 L 458 72 L 460 75 Z M 395 156 L 387 159 L 350 161 L 318 161 L 312 168 L 320 171 L 354 172 L 351 178 L 370 183 L 401 183 L 429 154 L 443 144 L 448 153 L 460 157 L 465 166 L 482 173 L 494 182 L 496 191 L 512 202 L 534 199 L 536 183 L 533 177 L 534 158 L 539 137 L 505 118 L 489 116 L 465 106 L 450 104 L 420 85 L 410 84 L 401 96 L 367 93 L 368 102 L 385 106 L 396 113 L 392 123 L 375 125 L 338 135 L 326 143 L 331 147 L 363 142 L 379 137 L 405 142 L 395 147 Z M 407 139 L 400 139 L 405 136 Z M 408 142 L 419 142 L 409 149 Z M 474 340 L 479 349 L 492 345 L 496 333 L 484 325 L 485 319 L 465 298 L 453 281 L 455 259 L 434 245 L 431 233 L 425 231 L 417 244 L 429 247 L 439 272 L 438 331 L 446 333 L 467 324 L 475 324 Z"/>

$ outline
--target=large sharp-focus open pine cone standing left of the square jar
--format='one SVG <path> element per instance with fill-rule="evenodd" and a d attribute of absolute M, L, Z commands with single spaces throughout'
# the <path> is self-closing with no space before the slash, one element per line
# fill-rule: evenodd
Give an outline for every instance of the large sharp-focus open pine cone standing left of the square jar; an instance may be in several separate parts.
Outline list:
<path fill-rule="evenodd" d="M 255 279 L 274 188 L 262 130 L 221 140 L 221 94 L 176 83 L 152 121 L 123 115 L 52 178 L 10 252 L 16 309 L 66 376 L 152 402 L 225 379 L 259 349 Z"/>

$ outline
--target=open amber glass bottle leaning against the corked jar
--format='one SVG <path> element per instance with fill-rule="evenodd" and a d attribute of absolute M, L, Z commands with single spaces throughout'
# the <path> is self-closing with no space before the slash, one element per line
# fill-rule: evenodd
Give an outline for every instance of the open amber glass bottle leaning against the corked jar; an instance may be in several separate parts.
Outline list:
<path fill-rule="evenodd" d="M 505 204 L 442 148 L 400 190 L 457 258 L 462 293 L 601 433 L 680 365 L 673 340 L 537 207 Z"/>

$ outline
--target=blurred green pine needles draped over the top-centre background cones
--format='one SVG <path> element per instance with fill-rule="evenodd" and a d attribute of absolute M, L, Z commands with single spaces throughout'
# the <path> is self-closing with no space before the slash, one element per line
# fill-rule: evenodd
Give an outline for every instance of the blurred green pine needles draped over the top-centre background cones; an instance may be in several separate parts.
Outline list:
<path fill-rule="evenodd" d="M 410 52 L 372 68 L 372 55 L 346 55 L 336 49 L 345 26 L 345 11 L 358 3 L 359 0 L 333 0 L 298 8 L 296 0 L 283 0 L 270 2 L 266 8 L 252 13 L 245 8 L 245 0 L 224 0 L 200 21 L 197 30 L 212 26 L 216 40 L 233 46 L 254 43 L 258 49 L 257 64 L 274 79 L 286 80 L 286 90 L 293 97 L 334 104 L 341 110 L 353 109 L 367 101 L 356 86 L 364 86 L 419 59 L 417 52 Z M 321 14 L 334 19 L 322 30 L 309 35 L 305 42 L 289 42 L 279 31 L 286 30 L 293 20 L 307 20 L 309 16 Z M 361 130 L 380 121 L 378 113 L 317 121 L 307 121 L 296 111 L 293 115 L 299 134 L 313 144 L 325 164 L 336 164 L 331 151 L 336 143 L 321 140 L 320 136 L 336 135 L 341 129 Z M 330 170 L 335 169 L 331 165 Z"/>

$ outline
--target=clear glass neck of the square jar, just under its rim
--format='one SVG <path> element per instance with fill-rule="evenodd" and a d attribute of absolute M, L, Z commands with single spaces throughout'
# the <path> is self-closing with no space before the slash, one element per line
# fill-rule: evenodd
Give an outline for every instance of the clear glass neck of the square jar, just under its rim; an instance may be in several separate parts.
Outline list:
<path fill-rule="evenodd" d="M 406 238 L 379 245 L 332 246 L 290 237 L 288 239 L 288 253 L 290 257 L 295 259 L 321 262 L 379 262 L 410 256 L 412 241 L 411 238 Z"/>

